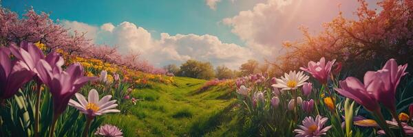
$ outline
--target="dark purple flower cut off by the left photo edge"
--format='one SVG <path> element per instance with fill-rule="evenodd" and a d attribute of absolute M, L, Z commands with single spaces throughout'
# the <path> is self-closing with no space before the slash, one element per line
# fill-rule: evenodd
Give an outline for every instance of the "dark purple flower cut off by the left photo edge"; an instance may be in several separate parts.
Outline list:
<path fill-rule="evenodd" d="M 10 50 L 0 47 L 0 99 L 8 99 L 29 82 L 34 73 L 23 61 L 10 60 Z"/>

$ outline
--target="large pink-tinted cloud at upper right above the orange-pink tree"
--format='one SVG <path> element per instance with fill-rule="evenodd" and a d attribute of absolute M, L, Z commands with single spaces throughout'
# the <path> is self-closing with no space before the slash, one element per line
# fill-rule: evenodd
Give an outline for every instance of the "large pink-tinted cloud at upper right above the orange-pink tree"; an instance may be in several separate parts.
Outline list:
<path fill-rule="evenodd" d="M 357 1 L 267 0 L 257 3 L 252 10 L 224 18 L 222 23 L 229 25 L 231 32 L 244 40 L 254 53 L 268 58 L 282 53 L 282 42 L 302 37 L 299 26 L 320 30 L 322 23 L 338 15 L 339 4 L 346 10 L 343 12 L 350 15 L 357 8 Z"/>

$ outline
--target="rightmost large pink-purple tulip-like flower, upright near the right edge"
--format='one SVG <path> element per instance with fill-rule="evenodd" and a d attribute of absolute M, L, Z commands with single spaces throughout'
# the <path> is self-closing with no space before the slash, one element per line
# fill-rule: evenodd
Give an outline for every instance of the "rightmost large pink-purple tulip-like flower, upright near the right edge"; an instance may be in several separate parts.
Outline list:
<path fill-rule="evenodd" d="M 373 92 L 373 94 L 377 101 L 382 103 L 386 108 L 389 108 L 392 112 L 396 112 L 396 88 L 399 85 L 401 77 L 407 74 L 405 73 L 406 69 L 407 64 L 397 66 L 396 60 L 390 59 L 381 70 L 376 72 L 368 71 L 366 75 L 369 75 L 369 77 L 367 77 L 367 79 L 365 77 L 364 79 L 368 82 L 372 82 L 377 78 L 383 81 L 383 90 L 381 92 Z M 374 75 L 378 77 L 374 77 Z"/>

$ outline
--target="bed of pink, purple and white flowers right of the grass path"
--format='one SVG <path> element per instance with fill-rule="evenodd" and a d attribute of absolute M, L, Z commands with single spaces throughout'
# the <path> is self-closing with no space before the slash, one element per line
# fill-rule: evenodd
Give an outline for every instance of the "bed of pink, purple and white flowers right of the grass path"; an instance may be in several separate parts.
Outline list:
<path fill-rule="evenodd" d="M 260 136 L 413 135 L 412 80 L 399 86 L 407 64 L 390 59 L 363 80 L 341 79 L 341 67 L 334 64 L 321 58 L 282 77 L 237 79 L 246 129 Z"/>

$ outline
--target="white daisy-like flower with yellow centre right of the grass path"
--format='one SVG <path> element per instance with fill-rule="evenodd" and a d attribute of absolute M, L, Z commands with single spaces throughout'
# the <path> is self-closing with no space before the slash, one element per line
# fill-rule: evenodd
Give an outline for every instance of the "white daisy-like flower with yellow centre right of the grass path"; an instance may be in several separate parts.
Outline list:
<path fill-rule="evenodd" d="M 277 84 L 273 84 L 272 86 L 282 88 L 282 90 L 295 90 L 299 86 L 304 85 L 304 82 L 306 82 L 308 78 L 307 75 L 304 75 L 303 71 L 299 71 L 298 73 L 290 71 L 289 74 L 285 73 L 281 79 L 276 79 Z"/>

